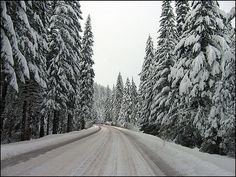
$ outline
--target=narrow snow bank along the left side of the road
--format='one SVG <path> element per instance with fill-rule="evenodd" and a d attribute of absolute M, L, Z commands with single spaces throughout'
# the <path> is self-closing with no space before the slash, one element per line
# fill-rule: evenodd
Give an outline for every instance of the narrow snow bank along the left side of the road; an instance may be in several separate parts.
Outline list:
<path fill-rule="evenodd" d="M 93 126 L 89 129 L 81 131 L 73 131 L 65 134 L 48 135 L 43 138 L 33 139 L 30 141 L 21 141 L 17 143 L 1 145 L 1 160 L 14 157 L 16 155 L 24 154 L 27 152 L 39 150 L 52 145 L 59 145 L 63 142 L 83 138 L 87 135 L 93 134 L 100 130 L 99 126 Z"/>

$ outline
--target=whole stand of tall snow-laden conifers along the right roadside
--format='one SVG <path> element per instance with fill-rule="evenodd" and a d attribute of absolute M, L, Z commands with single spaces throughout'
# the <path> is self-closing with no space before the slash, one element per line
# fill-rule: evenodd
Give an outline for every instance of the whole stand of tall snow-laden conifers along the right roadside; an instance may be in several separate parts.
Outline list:
<path fill-rule="evenodd" d="M 151 107 L 140 109 L 140 128 L 205 152 L 234 155 L 235 32 L 227 22 L 232 15 L 216 1 L 194 1 L 191 10 L 187 1 L 177 1 L 176 14 L 177 30 L 170 2 L 163 1 L 154 75 L 148 78 L 152 96 L 140 99 Z M 148 81 L 140 76 L 139 94 L 149 95 L 143 90 Z"/>

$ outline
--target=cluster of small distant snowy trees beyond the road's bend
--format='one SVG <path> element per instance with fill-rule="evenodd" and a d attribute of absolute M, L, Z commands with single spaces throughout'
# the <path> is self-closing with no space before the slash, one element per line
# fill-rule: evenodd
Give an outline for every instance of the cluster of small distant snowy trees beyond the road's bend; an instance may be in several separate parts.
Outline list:
<path fill-rule="evenodd" d="M 97 112 L 97 121 L 112 122 L 117 126 L 137 126 L 138 93 L 135 82 L 127 78 L 125 86 L 121 73 L 118 74 L 117 84 L 111 90 L 94 85 L 94 109 Z"/>

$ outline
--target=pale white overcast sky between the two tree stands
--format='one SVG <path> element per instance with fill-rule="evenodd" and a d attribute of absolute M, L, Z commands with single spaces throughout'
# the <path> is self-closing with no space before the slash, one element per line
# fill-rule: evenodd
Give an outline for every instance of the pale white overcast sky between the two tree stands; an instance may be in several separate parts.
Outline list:
<path fill-rule="evenodd" d="M 162 2 L 80 1 L 80 4 L 82 23 L 88 14 L 91 16 L 95 82 L 112 87 L 121 72 L 123 81 L 133 77 L 138 87 L 149 34 L 156 46 Z M 220 2 L 226 12 L 233 6 L 234 1 Z"/>

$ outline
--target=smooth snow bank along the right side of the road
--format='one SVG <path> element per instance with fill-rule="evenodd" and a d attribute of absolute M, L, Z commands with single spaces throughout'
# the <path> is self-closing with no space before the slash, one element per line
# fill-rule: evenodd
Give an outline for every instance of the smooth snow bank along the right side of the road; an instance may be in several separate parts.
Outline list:
<path fill-rule="evenodd" d="M 141 132 L 117 129 L 145 144 L 182 175 L 235 176 L 234 158 L 199 152 L 197 148 L 190 149 Z"/>

